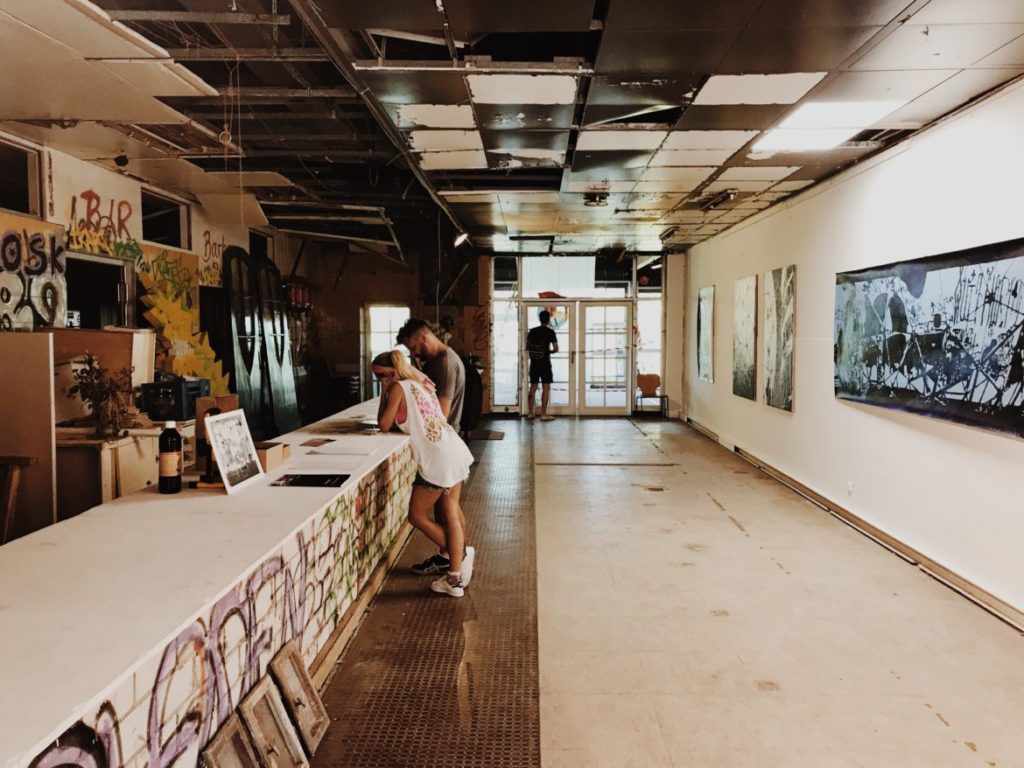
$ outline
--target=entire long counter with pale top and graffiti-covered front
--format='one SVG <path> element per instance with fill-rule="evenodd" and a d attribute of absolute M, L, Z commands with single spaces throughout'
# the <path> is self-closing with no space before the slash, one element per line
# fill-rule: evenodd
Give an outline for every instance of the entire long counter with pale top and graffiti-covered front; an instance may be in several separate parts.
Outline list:
<path fill-rule="evenodd" d="M 308 666 L 402 529 L 408 438 L 346 434 L 371 413 L 285 435 L 231 496 L 146 489 L 0 548 L 0 764 L 191 768 L 286 642 Z M 304 455 L 326 435 L 345 455 Z M 269 485 L 313 460 L 351 476 Z"/>

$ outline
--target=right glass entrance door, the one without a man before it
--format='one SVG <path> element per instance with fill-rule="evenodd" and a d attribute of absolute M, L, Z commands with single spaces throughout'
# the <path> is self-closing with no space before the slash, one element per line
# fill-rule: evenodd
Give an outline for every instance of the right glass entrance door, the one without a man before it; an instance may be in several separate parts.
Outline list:
<path fill-rule="evenodd" d="M 633 345 L 629 302 L 580 302 L 581 414 L 630 414 Z"/>

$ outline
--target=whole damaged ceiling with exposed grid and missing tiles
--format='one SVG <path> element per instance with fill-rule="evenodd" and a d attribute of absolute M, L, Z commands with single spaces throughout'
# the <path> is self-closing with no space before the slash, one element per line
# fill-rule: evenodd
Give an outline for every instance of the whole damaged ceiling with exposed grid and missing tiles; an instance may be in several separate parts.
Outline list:
<path fill-rule="evenodd" d="M 685 249 L 1024 74 L 1015 0 L 231 5 L 287 16 L 272 31 L 95 2 L 4 3 L 5 128 L 186 193 L 241 171 L 271 223 L 353 242 L 433 198 L 484 250 Z"/>

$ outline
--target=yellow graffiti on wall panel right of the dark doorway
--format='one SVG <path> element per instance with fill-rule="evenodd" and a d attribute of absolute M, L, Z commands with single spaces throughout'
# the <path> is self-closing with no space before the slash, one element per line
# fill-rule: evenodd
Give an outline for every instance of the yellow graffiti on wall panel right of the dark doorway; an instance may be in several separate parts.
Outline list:
<path fill-rule="evenodd" d="M 157 368 L 210 380 L 213 394 L 227 394 L 228 376 L 199 324 L 199 257 L 144 246 L 135 261 L 143 316 L 157 332 Z"/>

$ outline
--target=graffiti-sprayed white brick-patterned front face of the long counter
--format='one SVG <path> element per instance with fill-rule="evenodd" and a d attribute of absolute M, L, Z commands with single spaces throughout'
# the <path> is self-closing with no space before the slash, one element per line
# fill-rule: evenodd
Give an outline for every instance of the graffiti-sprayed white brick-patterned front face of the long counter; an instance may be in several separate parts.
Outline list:
<path fill-rule="evenodd" d="M 129 710 L 109 691 L 30 768 L 196 766 L 286 643 L 307 666 L 327 645 L 394 543 L 414 474 L 408 446 L 390 455 L 136 669 Z"/>

